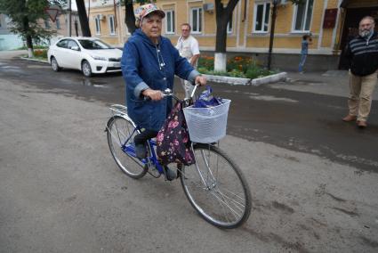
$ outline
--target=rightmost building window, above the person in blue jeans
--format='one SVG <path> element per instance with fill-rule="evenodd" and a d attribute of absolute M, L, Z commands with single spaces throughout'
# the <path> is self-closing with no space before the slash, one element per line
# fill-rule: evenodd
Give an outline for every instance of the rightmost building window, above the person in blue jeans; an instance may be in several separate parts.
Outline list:
<path fill-rule="evenodd" d="M 313 5 L 314 0 L 295 5 L 294 31 L 310 31 Z"/>

